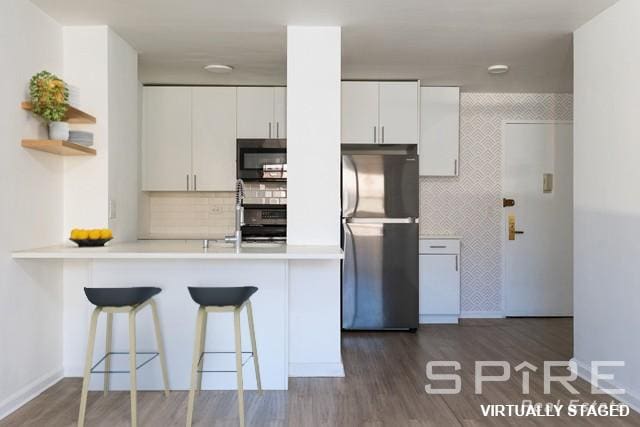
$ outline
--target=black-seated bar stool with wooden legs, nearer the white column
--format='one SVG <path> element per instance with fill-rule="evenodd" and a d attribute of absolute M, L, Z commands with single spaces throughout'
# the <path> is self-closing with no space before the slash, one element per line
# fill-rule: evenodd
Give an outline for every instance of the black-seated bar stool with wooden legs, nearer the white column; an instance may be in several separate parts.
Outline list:
<path fill-rule="evenodd" d="M 251 353 L 253 357 L 253 366 L 256 373 L 256 384 L 258 392 L 262 394 L 262 385 L 260 383 L 260 367 L 258 364 L 258 349 L 256 348 L 256 335 L 253 327 L 253 310 L 251 308 L 251 295 L 256 293 L 258 288 L 255 286 L 242 287 L 189 287 L 191 298 L 200 305 L 198 309 L 198 317 L 196 320 L 196 338 L 193 350 L 193 364 L 191 367 L 191 390 L 189 390 L 189 406 L 187 408 L 187 427 L 191 426 L 193 421 L 193 407 L 195 404 L 196 389 L 202 389 L 202 373 L 203 372 L 229 372 L 229 371 L 204 371 L 205 354 L 229 353 L 220 351 L 205 351 L 205 337 L 207 331 L 207 316 L 209 313 L 229 312 L 233 313 L 235 325 L 235 354 L 236 354 L 236 376 L 238 380 L 238 416 L 240 418 L 240 426 L 244 427 L 244 389 L 242 384 L 242 355 Z M 240 312 L 243 308 L 247 308 L 247 320 L 249 321 L 249 334 L 251 337 L 251 352 L 242 351 L 242 339 L 240 331 Z M 247 359 L 248 360 L 248 359 Z M 246 363 L 246 362 L 245 362 Z M 231 371 L 233 372 L 233 371 Z"/>

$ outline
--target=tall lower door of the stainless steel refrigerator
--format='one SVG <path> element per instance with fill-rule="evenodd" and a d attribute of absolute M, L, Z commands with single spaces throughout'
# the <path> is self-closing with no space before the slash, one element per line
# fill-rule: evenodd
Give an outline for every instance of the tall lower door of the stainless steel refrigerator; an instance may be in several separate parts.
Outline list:
<path fill-rule="evenodd" d="M 342 227 L 342 327 L 417 328 L 418 224 Z"/>

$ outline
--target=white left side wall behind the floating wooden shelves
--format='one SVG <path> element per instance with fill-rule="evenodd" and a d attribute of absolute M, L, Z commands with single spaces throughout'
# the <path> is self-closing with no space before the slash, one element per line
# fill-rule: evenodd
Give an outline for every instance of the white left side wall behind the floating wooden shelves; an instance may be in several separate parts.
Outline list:
<path fill-rule="evenodd" d="M 62 27 L 26 0 L 0 13 L 0 418 L 62 375 L 62 269 L 59 262 L 14 261 L 13 250 L 60 241 L 63 161 L 27 150 L 45 137 L 31 113 L 30 77 L 63 73 Z"/>

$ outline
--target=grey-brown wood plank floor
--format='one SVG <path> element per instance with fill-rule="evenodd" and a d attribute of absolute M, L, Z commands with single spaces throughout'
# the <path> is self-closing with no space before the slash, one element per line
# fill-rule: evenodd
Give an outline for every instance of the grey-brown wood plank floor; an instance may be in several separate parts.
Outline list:
<path fill-rule="evenodd" d="M 580 396 L 561 386 L 542 393 L 542 362 L 568 360 L 572 354 L 571 319 L 467 320 L 461 326 L 423 326 L 417 334 L 345 333 L 343 358 L 346 378 L 292 379 L 289 392 L 268 391 L 260 397 L 246 392 L 248 426 L 639 426 L 640 415 L 626 418 L 488 418 L 480 405 L 536 402 L 609 401 L 590 395 L 590 386 L 575 383 Z M 462 393 L 428 395 L 425 364 L 429 360 L 457 360 L 462 364 Z M 520 376 L 487 384 L 474 394 L 476 360 L 507 360 L 515 366 L 526 360 L 539 366 L 531 377 L 531 394 L 521 394 Z M 248 371 L 249 372 L 249 371 Z M 498 373 L 498 372 L 496 372 Z M 434 384 L 440 385 L 440 384 Z M 80 401 L 79 379 L 64 379 L 0 426 L 71 426 Z M 143 426 L 182 426 L 186 392 L 138 393 L 138 419 Z M 194 424 L 237 425 L 235 392 L 202 392 L 196 402 Z M 87 426 L 129 425 L 129 395 L 91 393 Z"/>

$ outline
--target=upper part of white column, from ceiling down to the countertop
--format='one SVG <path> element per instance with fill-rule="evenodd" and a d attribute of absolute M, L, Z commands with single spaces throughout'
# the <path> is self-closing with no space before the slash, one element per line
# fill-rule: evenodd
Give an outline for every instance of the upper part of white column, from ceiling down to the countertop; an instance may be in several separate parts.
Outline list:
<path fill-rule="evenodd" d="M 287 27 L 287 242 L 340 244 L 339 27 Z"/>

